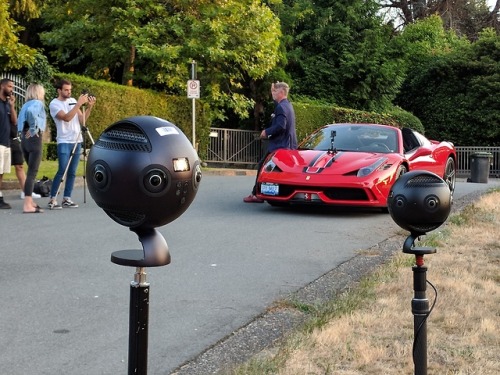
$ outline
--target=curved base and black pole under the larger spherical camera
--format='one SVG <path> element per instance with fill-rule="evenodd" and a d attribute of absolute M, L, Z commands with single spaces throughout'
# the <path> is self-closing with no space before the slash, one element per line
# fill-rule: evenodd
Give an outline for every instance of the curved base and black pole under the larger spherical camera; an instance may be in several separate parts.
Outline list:
<path fill-rule="evenodd" d="M 150 284 L 145 267 L 165 266 L 170 263 L 165 238 L 154 228 L 131 228 L 142 243 L 143 250 L 120 250 L 111 254 L 111 262 L 136 267 L 130 283 L 128 374 L 146 375 L 148 372 L 148 326 Z"/>

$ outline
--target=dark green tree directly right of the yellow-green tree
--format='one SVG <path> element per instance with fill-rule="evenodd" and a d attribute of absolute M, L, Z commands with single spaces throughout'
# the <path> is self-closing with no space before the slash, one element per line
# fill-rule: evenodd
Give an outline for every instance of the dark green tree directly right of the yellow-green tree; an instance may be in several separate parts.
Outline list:
<path fill-rule="evenodd" d="M 402 82 L 392 28 L 370 0 L 284 1 L 278 9 L 295 92 L 358 109 L 390 105 Z"/>

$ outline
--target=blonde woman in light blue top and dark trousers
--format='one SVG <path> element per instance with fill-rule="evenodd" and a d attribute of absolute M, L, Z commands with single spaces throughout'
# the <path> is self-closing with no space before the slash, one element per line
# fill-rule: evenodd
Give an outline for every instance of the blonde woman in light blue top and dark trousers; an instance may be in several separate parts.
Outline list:
<path fill-rule="evenodd" d="M 24 160 L 28 163 L 28 173 L 23 186 L 23 213 L 43 212 L 33 201 L 33 187 L 42 161 L 42 135 L 46 124 L 45 89 L 42 85 L 31 84 L 26 89 L 26 103 L 17 119 L 17 133 L 21 134 L 21 148 Z"/>

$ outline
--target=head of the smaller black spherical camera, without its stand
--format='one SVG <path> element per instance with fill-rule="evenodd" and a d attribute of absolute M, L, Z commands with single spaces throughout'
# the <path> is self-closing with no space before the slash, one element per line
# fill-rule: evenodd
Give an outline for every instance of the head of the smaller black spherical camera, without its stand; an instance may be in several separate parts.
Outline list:
<path fill-rule="evenodd" d="M 440 227 L 451 210 L 451 192 L 438 175 L 412 171 L 399 177 L 387 199 L 389 213 L 401 228 L 414 236 Z"/>

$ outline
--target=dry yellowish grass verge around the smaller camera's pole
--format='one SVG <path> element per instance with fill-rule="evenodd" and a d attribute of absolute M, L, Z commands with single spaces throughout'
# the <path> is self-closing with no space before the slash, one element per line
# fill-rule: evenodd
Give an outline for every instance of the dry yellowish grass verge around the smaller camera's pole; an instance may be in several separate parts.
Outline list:
<path fill-rule="evenodd" d="M 429 374 L 500 373 L 499 218 L 500 192 L 494 192 L 428 236 L 438 250 L 425 256 L 427 279 L 438 290 L 427 324 Z M 398 254 L 371 277 L 374 296 L 362 308 L 294 335 L 273 358 L 234 373 L 413 374 L 413 262 Z M 434 300 L 429 287 L 427 298 Z"/>

